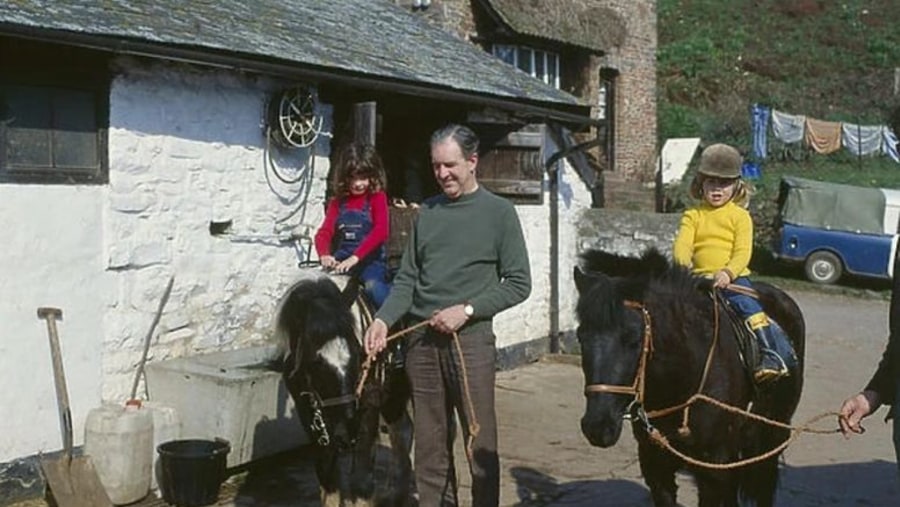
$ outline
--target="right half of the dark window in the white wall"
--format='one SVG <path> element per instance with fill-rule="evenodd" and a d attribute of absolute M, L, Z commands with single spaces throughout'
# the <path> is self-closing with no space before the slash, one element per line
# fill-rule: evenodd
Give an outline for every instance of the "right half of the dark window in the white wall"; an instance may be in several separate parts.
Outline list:
<path fill-rule="evenodd" d="M 56 132 L 53 136 L 56 167 L 98 167 L 93 94 L 81 90 L 59 90 L 53 106 L 56 113 Z"/>

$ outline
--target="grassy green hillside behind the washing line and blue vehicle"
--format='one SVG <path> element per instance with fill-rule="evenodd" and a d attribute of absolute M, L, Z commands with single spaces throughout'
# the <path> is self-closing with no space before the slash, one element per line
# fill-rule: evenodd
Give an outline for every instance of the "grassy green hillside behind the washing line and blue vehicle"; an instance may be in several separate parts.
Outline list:
<path fill-rule="evenodd" d="M 659 0 L 658 13 L 661 141 L 700 137 L 702 145 L 726 142 L 748 153 L 753 103 L 863 125 L 886 123 L 900 104 L 896 0 Z M 750 207 L 762 251 L 783 175 L 900 188 L 900 164 L 884 156 L 821 155 L 771 136 L 769 155 Z M 692 203 L 691 176 L 664 190 L 668 211 Z"/>

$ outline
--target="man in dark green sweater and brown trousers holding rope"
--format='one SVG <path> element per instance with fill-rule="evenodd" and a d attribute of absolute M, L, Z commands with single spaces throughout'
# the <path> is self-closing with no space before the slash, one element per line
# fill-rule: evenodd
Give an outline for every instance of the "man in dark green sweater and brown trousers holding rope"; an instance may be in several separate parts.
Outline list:
<path fill-rule="evenodd" d="M 365 334 L 366 351 L 375 353 L 401 318 L 429 322 L 406 337 L 421 507 L 458 504 L 454 414 L 466 442 L 472 438 L 472 505 L 500 503 L 492 319 L 528 297 L 531 271 L 515 208 L 478 185 L 478 142 L 460 125 L 432 135 L 432 169 L 443 194 L 422 204 L 390 295 Z"/>

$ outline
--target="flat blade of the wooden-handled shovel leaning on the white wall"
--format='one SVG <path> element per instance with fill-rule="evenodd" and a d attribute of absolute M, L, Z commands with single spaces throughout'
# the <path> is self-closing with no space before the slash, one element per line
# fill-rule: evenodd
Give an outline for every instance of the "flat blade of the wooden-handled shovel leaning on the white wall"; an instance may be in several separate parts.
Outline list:
<path fill-rule="evenodd" d="M 88 457 L 45 459 L 41 470 L 59 507 L 113 507 Z"/>

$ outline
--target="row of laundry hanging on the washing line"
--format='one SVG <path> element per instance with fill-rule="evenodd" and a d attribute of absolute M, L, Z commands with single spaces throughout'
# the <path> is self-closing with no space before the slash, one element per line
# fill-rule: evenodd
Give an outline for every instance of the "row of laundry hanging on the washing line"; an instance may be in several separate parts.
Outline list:
<path fill-rule="evenodd" d="M 753 130 L 753 156 L 765 160 L 768 155 L 768 134 L 787 143 L 803 142 L 821 154 L 834 153 L 841 148 L 854 155 L 884 154 L 900 163 L 897 136 L 887 125 L 857 125 L 810 118 L 785 113 L 762 104 L 750 108 Z"/>

